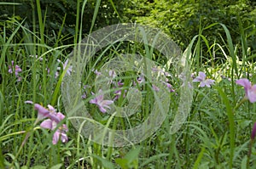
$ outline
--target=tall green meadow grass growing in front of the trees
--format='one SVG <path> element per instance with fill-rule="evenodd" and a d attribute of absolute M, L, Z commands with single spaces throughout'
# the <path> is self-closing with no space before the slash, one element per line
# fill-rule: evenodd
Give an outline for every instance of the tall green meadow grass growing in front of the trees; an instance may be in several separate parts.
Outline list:
<path fill-rule="evenodd" d="M 79 2 L 79 1 L 78 1 Z M 100 1 L 97 1 L 92 18 L 95 23 Z M 39 0 L 34 8 L 38 9 L 39 29 L 34 23 L 33 30 L 29 30 L 24 22 L 15 19 L 6 22 L 1 34 L 1 76 L 0 83 L 0 168 L 254 168 L 256 166 L 255 149 L 251 132 L 255 120 L 255 104 L 242 98 L 245 93 L 236 80 L 247 78 L 255 83 L 254 57 L 247 47 L 247 37 L 241 28 L 241 46 L 233 44 L 227 27 L 223 24 L 212 24 L 201 28 L 199 34 L 193 38 L 183 55 L 189 60 L 189 67 L 194 76 L 198 72 L 206 72 L 208 79 L 215 82 L 212 87 L 194 87 L 192 107 L 187 120 L 175 133 L 170 132 L 174 115 L 177 111 L 181 93 L 179 80 L 175 70 L 163 69 L 172 84 L 170 110 L 160 126 L 149 138 L 139 144 L 125 147 L 108 147 L 96 144 L 84 137 L 83 125 L 73 127 L 70 122 L 74 116 L 67 115 L 65 104 L 62 103 L 61 84 L 67 75 L 67 66 L 64 62 L 69 59 L 70 48 L 83 39 L 82 28 L 79 25 L 83 18 L 83 11 L 77 11 L 77 26 L 75 29 L 74 44 L 61 44 L 61 29 L 52 40 L 44 32 L 45 16 L 41 15 Z M 82 14 L 82 15 L 79 15 Z M 65 20 L 63 20 L 63 23 Z M 7 26 L 8 25 L 8 26 Z M 10 26 L 11 25 L 11 26 Z M 93 31 L 91 25 L 90 32 Z M 80 26 L 80 27 L 79 27 Z M 208 42 L 204 30 L 212 26 L 223 28 L 226 37 L 222 42 Z M 11 31 L 12 33 L 7 33 Z M 49 46 L 53 43 L 53 46 Z M 207 50 L 206 50 L 207 48 Z M 205 52 L 207 51 L 207 53 Z M 150 115 L 154 98 L 154 90 L 150 82 L 141 84 L 137 81 L 140 75 L 137 71 L 124 72 L 115 78 L 116 82 L 123 82 L 119 96 L 125 94 L 125 89 L 137 87 L 143 91 L 143 105 L 131 119 L 113 117 L 103 114 L 95 104 L 90 104 L 98 89 L 95 78 L 96 70 L 114 59 L 121 53 L 143 54 L 157 63 L 160 68 L 166 68 L 161 54 L 153 52 L 152 48 L 139 46 L 136 43 L 104 48 L 102 53 L 91 59 L 84 68 L 81 89 L 86 93 L 84 104 L 90 107 L 90 115 L 96 121 L 113 129 L 136 127 Z M 61 60 L 61 61 L 58 61 Z M 12 64 L 12 61 L 14 62 Z M 62 63 L 62 64 L 61 64 Z M 18 65 L 21 69 L 15 75 Z M 11 69 L 13 72 L 9 72 Z M 75 68 L 73 68 L 75 69 Z M 195 77 L 194 77 L 195 78 Z M 117 89 L 110 91 L 113 95 Z M 192 89 L 191 89 L 192 90 Z M 33 103 L 48 104 L 66 118 L 58 124 L 61 127 L 67 124 L 68 142 L 53 144 L 52 138 L 57 130 L 48 130 L 35 124 L 38 111 L 34 110 Z M 120 97 L 117 104 L 126 105 L 125 98 Z M 165 105 L 164 105 L 165 106 Z M 164 109 L 164 108 L 162 108 Z"/>

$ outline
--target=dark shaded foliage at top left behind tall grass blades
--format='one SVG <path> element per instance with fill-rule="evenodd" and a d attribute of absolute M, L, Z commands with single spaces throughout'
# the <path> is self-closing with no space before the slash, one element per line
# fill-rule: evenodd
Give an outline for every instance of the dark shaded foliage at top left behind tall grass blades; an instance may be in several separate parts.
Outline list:
<path fill-rule="evenodd" d="M 33 3 L 31 3 L 33 2 Z M 24 25 L 31 31 L 36 28 L 38 31 L 38 7 L 36 1 L 15 1 L 16 5 L 1 5 L 0 4 L 0 20 L 3 26 L 3 21 L 17 20 L 24 21 Z M 99 13 L 96 14 L 96 22 L 92 23 L 92 18 L 98 5 Z M 113 6 L 115 5 L 115 6 Z M 83 19 L 79 19 L 78 26 L 82 25 L 82 32 L 84 34 L 90 32 L 90 26 L 93 25 L 93 30 L 97 30 L 106 25 L 119 23 L 117 13 L 114 8 L 123 8 L 123 4 L 110 3 L 110 1 L 103 0 L 101 3 L 96 3 L 94 0 L 89 0 L 86 3 L 85 10 L 83 11 Z M 55 39 L 58 32 L 61 31 L 61 42 L 73 43 L 73 37 L 76 27 L 76 16 L 81 14 L 83 1 L 69 1 L 69 0 L 40 0 L 40 8 L 44 20 L 44 33 Z M 79 8 L 78 8 L 79 7 Z M 78 10 L 77 10 L 78 8 Z M 5 23 L 8 25 L 8 23 Z M 3 31 L 3 28 L 0 28 Z M 10 33 L 10 32 L 9 32 Z"/>

